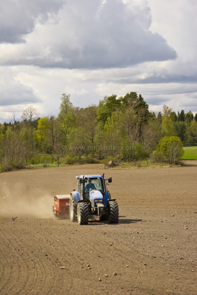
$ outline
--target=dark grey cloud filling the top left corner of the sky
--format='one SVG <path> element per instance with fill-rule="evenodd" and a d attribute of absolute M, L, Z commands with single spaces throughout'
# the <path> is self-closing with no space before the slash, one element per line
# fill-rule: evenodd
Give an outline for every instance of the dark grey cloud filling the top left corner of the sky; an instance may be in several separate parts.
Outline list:
<path fill-rule="evenodd" d="M 64 0 L 1 0 L 0 43 L 25 42 L 24 36 L 34 30 L 35 21 L 45 22 L 63 4 Z"/>

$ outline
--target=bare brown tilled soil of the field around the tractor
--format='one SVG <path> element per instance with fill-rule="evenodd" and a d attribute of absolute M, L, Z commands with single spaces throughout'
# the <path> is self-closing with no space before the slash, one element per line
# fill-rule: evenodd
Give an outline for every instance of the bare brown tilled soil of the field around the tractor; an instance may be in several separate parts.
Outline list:
<path fill-rule="evenodd" d="M 196 294 L 197 161 L 185 163 L 1 173 L 0 294 Z M 53 196 L 69 194 L 75 176 L 103 171 L 118 224 L 52 217 Z"/>

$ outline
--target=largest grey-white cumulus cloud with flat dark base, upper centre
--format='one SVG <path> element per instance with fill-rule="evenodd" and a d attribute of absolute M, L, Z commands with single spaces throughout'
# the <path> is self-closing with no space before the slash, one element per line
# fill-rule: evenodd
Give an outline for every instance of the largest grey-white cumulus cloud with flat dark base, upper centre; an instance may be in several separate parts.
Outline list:
<path fill-rule="evenodd" d="M 46 17 L 48 14 L 43 14 Z M 177 57 L 161 35 L 149 30 L 152 19 L 146 1 L 67 0 L 58 17 L 56 24 L 37 24 L 26 36 L 26 44 L 9 50 L 2 47 L 1 63 L 69 69 L 124 68 Z M 22 28 L 27 33 L 27 27 L 21 24 L 20 33 Z M 29 27 L 32 31 L 31 22 Z"/>

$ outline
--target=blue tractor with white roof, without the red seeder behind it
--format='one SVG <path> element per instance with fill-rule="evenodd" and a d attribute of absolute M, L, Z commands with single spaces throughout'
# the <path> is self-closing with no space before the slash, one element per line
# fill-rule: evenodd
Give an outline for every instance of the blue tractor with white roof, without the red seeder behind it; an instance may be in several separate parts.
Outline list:
<path fill-rule="evenodd" d="M 108 186 L 112 178 L 103 175 L 76 176 L 76 190 L 70 194 L 70 219 L 79 224 L 88 224 L 91 215 L 99 216 L 102 221 L 118 223 L 118 203 L 111 199 Z M 108 181 L 108 183 L 106 182 Z"/>

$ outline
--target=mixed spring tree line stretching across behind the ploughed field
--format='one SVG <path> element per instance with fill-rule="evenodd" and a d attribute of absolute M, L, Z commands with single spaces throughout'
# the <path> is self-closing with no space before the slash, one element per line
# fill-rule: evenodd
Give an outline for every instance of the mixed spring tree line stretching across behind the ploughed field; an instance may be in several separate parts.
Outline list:
<path fill-rule="evenodd" d="M 176 114 L 164 105 L 155 114 L 136 92 L 105 96 L 98 105 L 86 108 L 73 106 L 70 95 L 62 94 L 60 99 L 58 116 L 40 118 L 37 109 L 29 106 L 20 120 L 12 113 L 9 123 L 0 124 L 1 171 L 35 162 L 158 159 L 159 153 L 164 156 L 159 148 L 164 138 L 168 138 L 163 140 L 165 146 L 173 138 L 179 145 L 196 145 L 197 113 Z"/>

